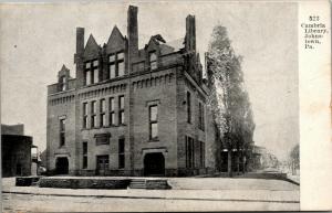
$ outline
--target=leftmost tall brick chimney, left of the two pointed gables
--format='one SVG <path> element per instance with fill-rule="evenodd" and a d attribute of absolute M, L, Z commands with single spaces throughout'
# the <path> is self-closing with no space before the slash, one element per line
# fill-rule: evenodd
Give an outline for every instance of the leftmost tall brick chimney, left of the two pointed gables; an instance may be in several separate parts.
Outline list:
<path fill-rule="evenodd" d="M 76 64 L 76 87 L 83 86 L 83 53 L 84 53 L 84 28 L 76 28 L 76 53 L 74 63 Z"/>

